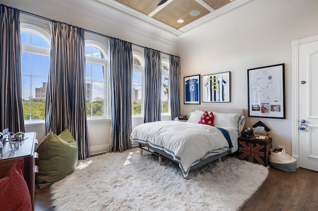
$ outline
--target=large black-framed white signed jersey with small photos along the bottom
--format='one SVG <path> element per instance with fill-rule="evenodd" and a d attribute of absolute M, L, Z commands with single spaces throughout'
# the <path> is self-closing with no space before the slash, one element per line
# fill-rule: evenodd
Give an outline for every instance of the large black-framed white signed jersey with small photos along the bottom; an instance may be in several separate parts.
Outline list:
<path fill-rule="evenodd" d="M 247 70 L 248 116 L 285 119 L 285 64 Z"/>

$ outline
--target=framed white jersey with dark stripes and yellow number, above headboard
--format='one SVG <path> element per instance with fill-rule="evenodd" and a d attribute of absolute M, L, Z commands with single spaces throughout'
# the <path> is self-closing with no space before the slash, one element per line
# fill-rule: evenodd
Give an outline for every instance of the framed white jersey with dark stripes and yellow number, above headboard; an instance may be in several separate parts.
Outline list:
<path fill-rule="evenodd" d="M 229 103 L 230 71 L 202 76 L 202 103 Z"/>

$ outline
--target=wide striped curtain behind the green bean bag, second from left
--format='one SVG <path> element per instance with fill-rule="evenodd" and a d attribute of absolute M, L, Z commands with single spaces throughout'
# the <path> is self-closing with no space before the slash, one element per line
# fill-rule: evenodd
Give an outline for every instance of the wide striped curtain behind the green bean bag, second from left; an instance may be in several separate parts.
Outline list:
<path fill-rule="evenodd" d="M 89 157 L 85 103 L 84 30 L 64 23 L 51 24 L 51 60 L 46 92 L 46 132 L 68 128 L 79 149 Z"/>

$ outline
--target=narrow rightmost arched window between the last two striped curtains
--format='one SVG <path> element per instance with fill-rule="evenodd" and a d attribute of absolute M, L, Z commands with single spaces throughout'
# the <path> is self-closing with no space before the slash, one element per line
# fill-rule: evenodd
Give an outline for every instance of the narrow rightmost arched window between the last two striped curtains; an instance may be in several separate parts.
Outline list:
<path fill-rule="evenodd" d="M 161 115 L 170 113 L 169 60 L 161 60 Z"/>

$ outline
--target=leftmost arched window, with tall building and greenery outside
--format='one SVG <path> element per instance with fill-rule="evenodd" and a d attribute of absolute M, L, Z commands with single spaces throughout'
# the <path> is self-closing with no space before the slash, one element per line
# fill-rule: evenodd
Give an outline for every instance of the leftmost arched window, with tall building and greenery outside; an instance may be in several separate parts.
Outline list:
<path fill-rule="evenodd" d="M 49 36 L 35 26 L 24 25 L 21 27 L 21 44 L 24 120 L 44 119 L 50 66 Z"/>

